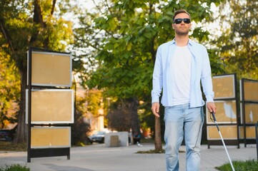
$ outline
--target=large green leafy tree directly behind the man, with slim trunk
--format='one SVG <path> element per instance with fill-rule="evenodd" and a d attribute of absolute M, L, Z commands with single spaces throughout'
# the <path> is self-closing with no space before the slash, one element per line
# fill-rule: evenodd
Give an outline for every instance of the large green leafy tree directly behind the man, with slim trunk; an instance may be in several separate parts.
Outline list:
<path fill-rule="evenodd" d="M 218 4 L 218 1 L 213 1 Z M 84 77 L 89 88 L 105 88 L 105 93 L 126 103 L 149 103 L 152 89 L 152 70 L 157 47 L 174 37 L 172 16 L 176 9 L 187 9 L 192 21 L 199 22 L 210 16 L 211 1 L 100 1 L 96 14 L 91 14 L 91 26 L 86 33 L 94 33 L 98 41 L 84 43 L 94 52 L 98 68 L 88 71 Z M 85 23 L 85 22 L 84 22 Z M 76 33 L 81 35 L 78 29 Z M 84 31 L 85 33 L 85 31 Z M 99 34 L 96 34 L 99 33 Z M 79 36 L 76 36 L 79 37 Z M 192 38 L 207 39 L 207 32 L 195 28 Z M 80 39 L 80 41 L 82 41 Z M 214 60 L 215 61 L 215 60 Z M 149 109 L 146 110 L 147 112 Z M 137 116 L 137 108 L 129 113 Z M 162 148 L 160 118 L 155 118 L 155 149 Z"/>

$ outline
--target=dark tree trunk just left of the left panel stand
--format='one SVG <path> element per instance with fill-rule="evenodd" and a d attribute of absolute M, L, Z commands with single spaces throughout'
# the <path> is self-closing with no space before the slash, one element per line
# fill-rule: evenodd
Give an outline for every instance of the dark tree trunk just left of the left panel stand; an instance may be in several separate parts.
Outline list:
<path fill-rule="evenodd" d="M 21 75 L 21 101 L 19 102 L 18 126 L 14 137 L 14 143 L 25 143 L 27 141 L 27 128 L 25 124 L 25 103 L 26 103 L 26 67 L 20 71 Z"/>

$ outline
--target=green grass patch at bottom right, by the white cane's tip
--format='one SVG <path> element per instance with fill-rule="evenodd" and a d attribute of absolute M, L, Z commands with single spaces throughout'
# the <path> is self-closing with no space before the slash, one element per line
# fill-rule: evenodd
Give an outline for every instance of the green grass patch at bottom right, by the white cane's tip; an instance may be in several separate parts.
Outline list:
<path fill-rule="evenodd" d="M 234 166 L 234 170 L 236 171 L 242 171 L 242 170 L 257 171 L 258 160 L 233 161 L 232 165 Z M 220 167 L 216 167 L 216 169 L 221 171 L 231 171 L 232 167 L 230 163 L 227 163 Z"/>

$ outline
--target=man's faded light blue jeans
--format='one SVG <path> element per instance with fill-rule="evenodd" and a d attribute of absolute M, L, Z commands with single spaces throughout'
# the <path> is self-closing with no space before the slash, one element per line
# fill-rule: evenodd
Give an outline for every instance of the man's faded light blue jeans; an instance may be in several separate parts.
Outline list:
<path fill-rule="evenodd" d="M 202 140 L 204 112 L 202 107 L 190 108 L 189 104 L 165 107 L 164 140 L 167 171 L 179 170 L 179 147 L 184 142 L 187 149 L 187 171 L 198 171 Z"/>

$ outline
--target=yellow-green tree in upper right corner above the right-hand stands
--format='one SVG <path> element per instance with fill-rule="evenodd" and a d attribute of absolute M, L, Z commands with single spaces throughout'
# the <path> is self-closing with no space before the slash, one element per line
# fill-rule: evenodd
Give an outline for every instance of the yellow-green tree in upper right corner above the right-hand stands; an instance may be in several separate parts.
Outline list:
<path fill-rule="evenodd" d="M 258 4 L 257 1 L 224 1 L 219 6 L 219 31 L 214 44 L 228 73 L 239 78 L 258 79 Z M 227 11 L 225 13 L 224 11 Z"/>

